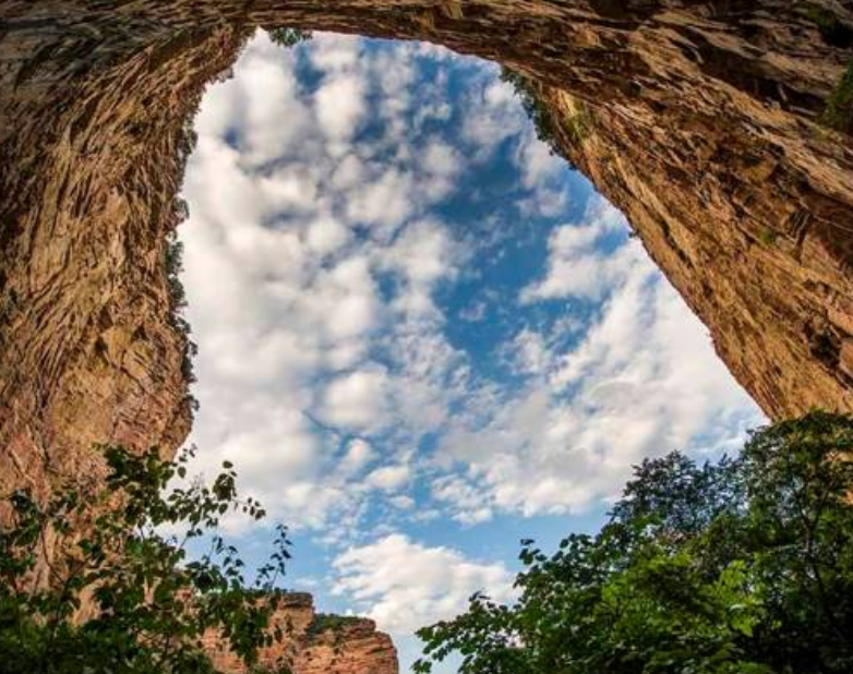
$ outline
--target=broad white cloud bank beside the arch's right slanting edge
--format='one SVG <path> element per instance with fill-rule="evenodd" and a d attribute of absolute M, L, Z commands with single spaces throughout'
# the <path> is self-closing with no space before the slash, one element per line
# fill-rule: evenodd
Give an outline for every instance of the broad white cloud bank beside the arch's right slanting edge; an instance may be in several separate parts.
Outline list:
<path fill-rule="evenodd" d="M 597 252 L 618 221 L 596 198 L 584 222 L 555 230 L 544 279 L 522 292 L 525 302 L 602 297 L 586 333 L 563 348 L 560 334 L 519 333 L 508 350 L 522 390 L 455 418 L 443 437 L 438 462 L 467 470 L 433 495 L 459 521 L 581 513 L 645 457 L 736 446 L 761 420 L 639 244 Z"/>

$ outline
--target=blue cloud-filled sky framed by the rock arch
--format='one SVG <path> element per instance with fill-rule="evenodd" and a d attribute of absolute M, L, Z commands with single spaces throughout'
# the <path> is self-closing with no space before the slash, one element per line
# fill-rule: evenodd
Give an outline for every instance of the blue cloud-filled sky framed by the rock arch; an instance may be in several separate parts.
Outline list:
<path fill-rule="evenodd" d="M 374 618 L 403 672 L 418 627 L 512 601 L 520 539 L 592 532 L 645 457 L 762 422 L 496 65 L 259 31 L 195 130 L 193 469 L 231 460 L 268 513 L 226 522 L 245 557 L 289 526 L 288 587 Z"/>

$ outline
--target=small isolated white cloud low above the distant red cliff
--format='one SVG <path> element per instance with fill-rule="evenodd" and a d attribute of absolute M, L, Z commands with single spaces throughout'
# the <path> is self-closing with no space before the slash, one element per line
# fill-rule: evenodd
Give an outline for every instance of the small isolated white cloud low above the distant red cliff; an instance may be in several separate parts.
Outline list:
<path fill-rule="evenodd" d="M 334 567 L 339 577 L 333 592 L 350 597 L 393 634 L 452 618 L 480 590 L 500 601 L 513 597 L 512 575 L 503 564 L 472 562 L 458 551 L 428 547 L 399 533 L 350 547 Z"/>

